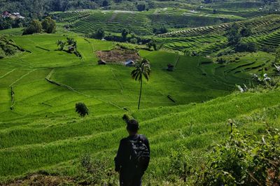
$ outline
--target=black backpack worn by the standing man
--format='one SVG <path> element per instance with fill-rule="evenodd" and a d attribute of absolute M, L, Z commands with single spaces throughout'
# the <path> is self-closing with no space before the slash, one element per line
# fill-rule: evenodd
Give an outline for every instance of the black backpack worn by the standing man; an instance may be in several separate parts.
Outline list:
<path fill-rule="evenodd" d="M 138 171 L 146 171 L 150 162 L 150 151 L 144 143 L 141 135 L 136 140 L 128 140 L 130 143 L 130 162 Z"/>

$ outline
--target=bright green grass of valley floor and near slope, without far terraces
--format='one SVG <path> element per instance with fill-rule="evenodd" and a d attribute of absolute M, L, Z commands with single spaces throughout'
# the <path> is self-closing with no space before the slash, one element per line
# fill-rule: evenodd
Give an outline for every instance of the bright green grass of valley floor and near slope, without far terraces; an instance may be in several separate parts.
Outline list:
<path fill-rule="evenodd" d="M 78 176 L 78 158 L 87 151 L 110 159 L 113 166 L 118 142 L 126 136 L 124 113 L 139 120 L 141 133 L 151 141 L 147 173 L 151 181 L 165 180 L 172 150 L 184 145 L 194 157 L 204 155 L 228 136 L 229 118 L 243 121 L 237 123 L 241 129 L 258 132 L 264 124 L 249 118 L 272 113 L 267 120 L 279 126 L 279 113 L 274 113 L 279 108 L 279 90 L 232 94 L 235 84 L 248 85 L 250 73 L 271 64 L 273 56 L 265 52 L 244 53 L 238 62 L 222 66 L 205 57 L 140 50 L 141 57 L 151 62 L 152 73 L 144 82 L 137 111 L 139 83 L 130 77 L 133 68 L 97 65 L 95 52 L 110 50 L 116 43 L 85 40 L 71 32 L 68 36 L 76 38 L 82 59 L 57 50 L 55 43 L 65 34 L 8 37 L 31 52 L 0 59 L 0 181 L 39 170 Z M 207 42 L 203 36 L 193 39 Z M 175 66 L 172 72 L 166 70 L 169 63 Z M 90 108 L 85 118 L 75 113 L 80 101 Z"/>

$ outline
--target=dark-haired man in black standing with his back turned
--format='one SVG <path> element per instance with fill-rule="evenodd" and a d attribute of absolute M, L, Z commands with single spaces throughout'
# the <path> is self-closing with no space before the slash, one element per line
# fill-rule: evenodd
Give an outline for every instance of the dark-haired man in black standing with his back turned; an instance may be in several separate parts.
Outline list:
<path fill-rule="evenodd" d="M 120 140 L 115 171 L 120 174 L 120 186 L 141 186 L 150 162 L 150 145 L 146 136 L 138 134 L 137 120 L 126 120 L 129 136 Z"/>

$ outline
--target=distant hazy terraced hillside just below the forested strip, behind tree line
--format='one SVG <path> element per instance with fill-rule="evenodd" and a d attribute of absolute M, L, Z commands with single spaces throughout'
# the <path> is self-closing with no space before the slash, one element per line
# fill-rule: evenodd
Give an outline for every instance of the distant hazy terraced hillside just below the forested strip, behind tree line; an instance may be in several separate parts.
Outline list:
<path fill-rule="evenodd" d="M 66 22 L 72 31 L 88 34 L 98 28 L 105 31 L 120 33 L 123 28 L 130 29 L 134 34 L 152 34 L 153 28 L 197 27 L 240 20 L 241 17 L 228 15 L 210 15 L 190 10 L 162 8 L 145 12 L 120 10 L 83 10 L 65 13 L 53 13 L 57 20 Z"/>

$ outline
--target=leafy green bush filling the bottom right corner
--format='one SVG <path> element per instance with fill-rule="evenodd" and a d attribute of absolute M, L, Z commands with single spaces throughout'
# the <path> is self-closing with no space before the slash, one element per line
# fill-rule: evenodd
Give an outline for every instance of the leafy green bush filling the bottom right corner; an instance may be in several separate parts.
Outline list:
<path fill-rule="evenodd" d="M 197 185 L 279 185 L 280 133 L 267 127 L 262 138 L 232 128 L 230 139 L 209 154 Z"/>

